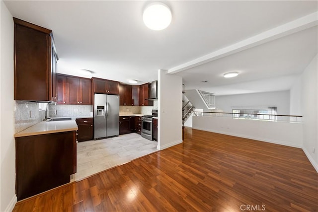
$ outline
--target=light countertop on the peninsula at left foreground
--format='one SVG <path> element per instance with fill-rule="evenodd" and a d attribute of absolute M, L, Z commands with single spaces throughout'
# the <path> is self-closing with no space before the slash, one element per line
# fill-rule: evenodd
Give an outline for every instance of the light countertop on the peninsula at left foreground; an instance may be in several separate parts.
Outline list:
<path fill-rule="evenodd" d="M 14 138 L 24 137 L 24 136 L 50 134 L 50 133 L 76 131 L 76 130 L 78 130 L 78 126 L 77 126 L 75 120 L 55 121 L 55 122 L 45 122 L 44 121 L 44 122 L 37 123 L 36 125 L 33 125 L 33 126 L 27 128 L 19 133 L 14 134 Z"/>

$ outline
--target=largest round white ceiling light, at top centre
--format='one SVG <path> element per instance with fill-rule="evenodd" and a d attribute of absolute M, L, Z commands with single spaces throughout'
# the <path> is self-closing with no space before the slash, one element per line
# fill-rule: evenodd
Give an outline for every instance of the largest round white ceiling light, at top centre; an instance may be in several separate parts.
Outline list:
<path fill-rule="evenodd" d="M 151 3 L 144 10 L 144 23 L 152 30 L 165 29 L 171 23 L 171 19 L 171 10 L 164 3 Z"/>

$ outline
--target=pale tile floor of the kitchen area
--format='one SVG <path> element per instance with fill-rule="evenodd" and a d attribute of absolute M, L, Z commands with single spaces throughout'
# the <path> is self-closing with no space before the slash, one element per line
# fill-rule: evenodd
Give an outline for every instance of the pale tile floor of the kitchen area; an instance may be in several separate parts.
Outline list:
<path fill-rule="evenodd" d="M 78 181 L 155 151 L 157 151 L 157 141 L 149 141 L 137 133 L 79 142 L 77 173 L 71 177 L 71 181 Z"/>

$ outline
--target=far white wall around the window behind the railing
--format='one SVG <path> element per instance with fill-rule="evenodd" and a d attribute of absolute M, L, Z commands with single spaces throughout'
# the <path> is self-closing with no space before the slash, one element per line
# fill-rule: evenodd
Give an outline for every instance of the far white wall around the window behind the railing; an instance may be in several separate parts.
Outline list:
<path fill-rule="evenodd" d="M 215 106 L 227 113 L 232 113 L 232 109 L 238 106 L 244 109 L 253 109 L 248 106 L 277 106 L 278 115 L 290 115 L 289 98 L 289 91 L 215 96 Z"/>

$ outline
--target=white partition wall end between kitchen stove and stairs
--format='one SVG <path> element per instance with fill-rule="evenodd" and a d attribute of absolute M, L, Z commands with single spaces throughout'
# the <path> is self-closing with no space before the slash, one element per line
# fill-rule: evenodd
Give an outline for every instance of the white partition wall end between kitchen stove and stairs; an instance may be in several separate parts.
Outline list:
<path fill-rule="evenodd" d="M 182 78 L 158 70 L 159 150 L 182 142 Z"/>

